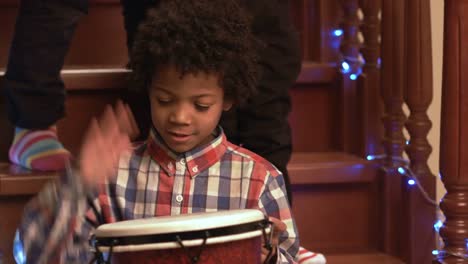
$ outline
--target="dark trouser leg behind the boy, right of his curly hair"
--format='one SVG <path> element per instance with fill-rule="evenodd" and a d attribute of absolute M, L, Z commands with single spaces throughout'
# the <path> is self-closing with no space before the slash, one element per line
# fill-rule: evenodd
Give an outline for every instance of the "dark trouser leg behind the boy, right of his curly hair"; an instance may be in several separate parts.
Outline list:
<path fill-rule="evenodd" d="M 263 156 L 283 173 L 292 203 L 287 171 L 292 152 L 288 91 L 301 68 L 298 36 L 291 26 L 288 1 L 240 2 L 252 14 L 252 31 L 265 45 L 259 52 L 262 77 L 258 94 L 224 114 L 221 125 L 229 140 Z"/>

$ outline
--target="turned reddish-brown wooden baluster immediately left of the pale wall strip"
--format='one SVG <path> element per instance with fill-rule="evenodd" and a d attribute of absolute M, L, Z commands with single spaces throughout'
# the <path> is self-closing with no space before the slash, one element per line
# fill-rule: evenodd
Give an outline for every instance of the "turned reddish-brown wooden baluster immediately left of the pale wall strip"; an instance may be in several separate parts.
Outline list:
<path fill-rule="evenodd" d="M 427 140 L 431 121 L 427 109 L 432 101 L 432 50 L 430 27 L 430 2 L 405 1 L 405 92 L 410 110 L 405 124 L 410 142 L 406 153 L 410 168 L 430 198 L 435 195 L 435 177 L 427 160 L 432 152 Z M 417 188 L 405 190 L 406 241 L 403 256 L 408 263 L 430 263 L 434 248 L 435 207 L 427 202 Z"/>

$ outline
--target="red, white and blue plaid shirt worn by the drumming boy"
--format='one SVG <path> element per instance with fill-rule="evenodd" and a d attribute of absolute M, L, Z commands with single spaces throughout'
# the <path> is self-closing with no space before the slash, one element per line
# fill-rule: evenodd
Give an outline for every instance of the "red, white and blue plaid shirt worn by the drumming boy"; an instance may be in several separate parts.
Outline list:
<path fill-rule="evenodd" d="M 221 129 L 217 134 L 210 144 L 176 155 L 152 131 L 145 144 L 122 156 L 117 177 L 92 195 L 77 172 L 46 186 L 26 207 L 19 228 L 27 263 L 89 262 L 89 238 L 100 224 L 243 208 L 286 223 L 278 262 L 293 263 L 299 240 L 281 173 L 229 143 Z"/>

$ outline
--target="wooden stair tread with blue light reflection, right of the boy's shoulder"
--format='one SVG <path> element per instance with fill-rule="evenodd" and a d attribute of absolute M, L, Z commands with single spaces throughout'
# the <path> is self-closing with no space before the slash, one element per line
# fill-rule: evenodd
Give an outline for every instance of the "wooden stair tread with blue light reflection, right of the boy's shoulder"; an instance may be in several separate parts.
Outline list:
<path fill-rule="evenodd" d="M 372 182 L 374 163 L 344 152 L 296 152 L 288 172 L 292 184 Z"/>

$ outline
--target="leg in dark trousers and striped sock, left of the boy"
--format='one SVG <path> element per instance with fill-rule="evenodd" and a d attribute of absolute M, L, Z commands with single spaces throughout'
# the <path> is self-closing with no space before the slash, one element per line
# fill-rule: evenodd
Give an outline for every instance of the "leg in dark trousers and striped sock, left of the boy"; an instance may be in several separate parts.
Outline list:
<path fill-rule="evenodd" d="M 86 9 L 86 0 L 21 1 L 2 87 L 17 127 L 9 152 L 13 163 L 56 170 L 69 156 L 56 129 L 48 127 L 64 116 L 60 70 Z"/>

